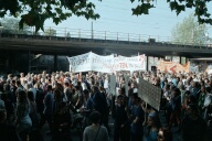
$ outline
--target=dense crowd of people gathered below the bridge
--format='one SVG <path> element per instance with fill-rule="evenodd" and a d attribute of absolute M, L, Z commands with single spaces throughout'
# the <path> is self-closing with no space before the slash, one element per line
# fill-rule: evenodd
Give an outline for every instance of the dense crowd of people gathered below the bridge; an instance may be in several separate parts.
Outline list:
<path fill-rule="evenodd" d="M 139 97 L 139 77 L 161 88 L 160 111 Z M 119 72 L 116 94 L 109 84 L 109 74 L 94 72 L 8 74 L 0 78 L 0 140 L 43 141 L 47 123 L 52 141 L 71 141 L 76 129 L 83 141 L 172 141 L 173 127 L 182 141 L 212 141 L 211 75 Z"/>

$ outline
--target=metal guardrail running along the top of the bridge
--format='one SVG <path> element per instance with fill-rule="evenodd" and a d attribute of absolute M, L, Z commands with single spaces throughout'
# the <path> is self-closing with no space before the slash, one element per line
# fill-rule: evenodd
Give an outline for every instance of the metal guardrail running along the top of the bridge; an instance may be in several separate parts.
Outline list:
<path fill-rule="evenodd" d="M 194 45 L 188 43 L 171 42 L 169 36 L 151 36 L 146 34 L 82 30 L 68 28 L 44 28 L 44 32 L 39 31 L 36 34 L 32 28 L 25 34 L 18 34 L 19 32 L 4 33 L 2 31 L 0 37 L 17 37 L 17 39 L 36 39 L 36 40 L 57 40 L 57 41 L 81 41 L 81 42 L 104 42 L 104 43 L 121 43 L 121 44 L 158 44 L 167 46 L 183 46 L 193 48 L 212 48 L 206 45 Z M 12 33 L 12 34 L 11 34 Z M 188 40 L 189 41 L 189 40 Z M 190 39 L 191 41 L 191 39 Z"/>

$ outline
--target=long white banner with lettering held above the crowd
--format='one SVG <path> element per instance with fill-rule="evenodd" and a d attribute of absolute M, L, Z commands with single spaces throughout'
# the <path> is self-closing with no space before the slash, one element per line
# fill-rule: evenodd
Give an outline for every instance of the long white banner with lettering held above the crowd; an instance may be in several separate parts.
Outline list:
<path fill-rule="evenodd" d="M 116 70 L 146 70 L 145 55 L 135 57 L 118 56 L 100 56 L 92 52 L 68 57 L 71 70 L 77 72 L 102 72 L 102 73 L 115 73 Z"/>

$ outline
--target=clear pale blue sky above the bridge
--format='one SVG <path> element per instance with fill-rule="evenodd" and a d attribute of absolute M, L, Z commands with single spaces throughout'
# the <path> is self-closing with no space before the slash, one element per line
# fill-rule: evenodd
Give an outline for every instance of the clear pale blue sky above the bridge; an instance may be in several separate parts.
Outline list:
<path fill-rule="evenodd" d="M 149 14 L 137 17 L 132 15 L 131 12 L 131 8 L 137 4 L 131 3 L 130 0 L 92 1 L 96 4 L 95 11 L 100 14 L 100 18 L 96 21 L 71 17 L 59 25 L 53 24 L 52 20 L 47 20 L 44 26 L 53 26 L 59 34 L 63 34 L 64 31 L 75 32 L 73 34 L 81 32 L 83 34 L 85 31 L 91 32 L 93 22 L 94 36 L 95 34 L 104 36 L 106 32 L 108 37 L 116 37 L 118 34 L 120 39 L 121 35 L 127 39 L 129 33 L 131 40 L 134 37 L 148 39 L 150 36 L 159 41 L 166 41 L 170 40 L 171 30 L 174 25 L 193 12 L 192 9 L 187 9 L 186 12 L 181 12 L 177 17 L 176 11 L 170 10 L 167 0 L 157 0 L 155 2 L 156 8 L 150 9 Z M 81 29 L 81 31 L 77 29 Z M 212 31 L 212 28 L 210 31 Z M 212 36 L 212 32 L 209 32 L 209 34 Z M 89 35 L 89 33 L 86 35 Z"/>

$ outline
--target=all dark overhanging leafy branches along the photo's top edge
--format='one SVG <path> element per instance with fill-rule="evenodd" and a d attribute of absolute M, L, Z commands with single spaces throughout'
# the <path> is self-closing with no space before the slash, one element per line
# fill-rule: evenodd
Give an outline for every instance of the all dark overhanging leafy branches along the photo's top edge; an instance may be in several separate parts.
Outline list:
<path fill-rule="evenodd" d="M 92 0 L 0 0 L 0 18 L 4 18 L 7 13 L 14 18 L 20 17 L 20 29 L 24 23 L 35 26 L 38 32 L 40 29 L 44 31 L 43 24 L 46 19 L 52 19 L 55 24 L 66 20 L 73 14 L 85 17 L 86 19 L 98 19 L 99 14 L 95 13 L 95 4 Z M 102 0 L 98 0 L 102 1 Z M 157 0 L 130 0 L 138 2 L 132 8 L 132 14 L 148 14 L 149 9 L 155 8 Z M 212 0 L 167 0 L 171 11 L 179 14 L 186 9 L 194 9 L 199 23 L 212 24 L 211 14 L 208 11 Z"/>

